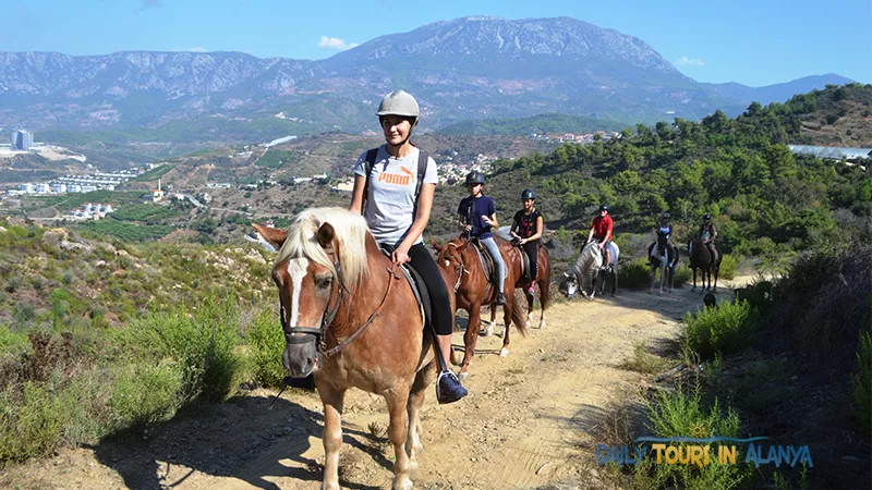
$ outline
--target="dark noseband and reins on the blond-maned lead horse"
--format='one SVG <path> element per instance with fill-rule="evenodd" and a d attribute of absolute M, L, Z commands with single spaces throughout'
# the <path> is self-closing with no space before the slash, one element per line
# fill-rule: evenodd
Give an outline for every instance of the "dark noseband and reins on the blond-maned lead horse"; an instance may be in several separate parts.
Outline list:
<path fill-rule="evenodd" d="M 332 307 L 330 307 L 330 302 L 327 302 L 327 306 L 324 309 L 324 315 L 322 316 L 320 328 L 314 327 L 288 327 L 288 322 L 284 319 L 286 317 L 286 309 L 284 306 L 281 306 L 280 313 L 280 320 L 281 320 L 281 329 L 284 332 L 284 341 L 289 344 L 305 344 L 308 342 L 314 341 L 317 342 L 317 348 L 320 354 L 324 355 L 325 358 L 330 358 L 340 352 L 343 348 L 348 347 L 348 345 L 354 341 L 361 333 L 363 333 L 372 323 L 375 321 L 378 316 L 382 315 L 382 309 L 385 307 L 385 303 L 387 303 L 388 296 L 390 295 L 390 289 L 393 285 L 393 280 L 399 279 L 399 275 L 395 272 L 395 265 L 391 264 L 390 267 L 386 267 L 388 274 L 390 278 L 388 279 L 388 286 L 385 290 L 385 296 L 382 298 L 382 303 L 370 315 L 370 318 L 356 330 L 352 333 L 348 339 L 340 342 L 332 348 L 327 348 L 326 336 L 327 336 L 327 329 L 332 324 L 334 320 L 336 319 L 336 315 L 339 311 L 339 305 L 342 303 L 344 298 L 344 291 L 348 290 L 346 287 L 346 283 L 342 280 L 342 271 L 339 267 L 339 257 L 334 253 L 332 248 L 326 250 L 328 254 L 334 256 L 334 267 L 336 268 L 336 275 L 338 279 L 338 284 L 336 287 L 339 290 L 339 293 L 336 296 L 336 302 L 334 303 Z M 334 297 L 334 294 L 330 294 L 330 298 Z M 296 334 L 296 335 L 295 335 Z"/>

